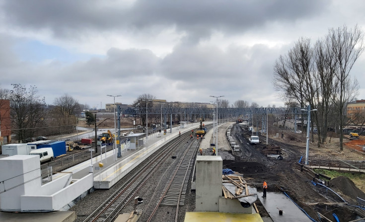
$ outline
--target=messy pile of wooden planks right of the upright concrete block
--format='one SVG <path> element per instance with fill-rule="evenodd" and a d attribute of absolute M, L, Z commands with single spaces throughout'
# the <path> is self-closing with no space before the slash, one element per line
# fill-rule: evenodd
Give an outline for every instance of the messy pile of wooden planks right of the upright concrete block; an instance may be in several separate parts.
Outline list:
<path fill-rule="evenodd" d="M 241 198 L 241 197 L 248 197 L 254 194 L 249 194 L 247 183 L 241 176 L 235 175 L 223 175 L 223 183 L 231 183 L 236 186 L 235 193 L 231 193 L 227 190 L 224 186 L 222 186 L 224 198 Z"/>

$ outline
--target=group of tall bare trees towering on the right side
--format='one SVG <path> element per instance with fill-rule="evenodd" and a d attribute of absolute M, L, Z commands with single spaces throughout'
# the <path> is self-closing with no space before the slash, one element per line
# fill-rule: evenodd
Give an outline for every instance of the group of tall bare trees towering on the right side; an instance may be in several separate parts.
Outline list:
<path fill-rule="evenodd" d="M 343 129 L 349 119 L 346 107 L 358 94 L 358 81 L 350 75 L 356 60 L 364 52 L 364 32 L 359 26 L 330 28 L 314 44 L 300 38 L 292 49 L 274 65 L 274 87 L 281 92 L 288 107 L 309 104 L 318 126 L 318 146 L 326 142 L 330 125 L 338 126 L 340 148 Z M 330 117 L 336 117 L 331 119 Z M 312 127 L 313 130 L 313 127 Z"/>

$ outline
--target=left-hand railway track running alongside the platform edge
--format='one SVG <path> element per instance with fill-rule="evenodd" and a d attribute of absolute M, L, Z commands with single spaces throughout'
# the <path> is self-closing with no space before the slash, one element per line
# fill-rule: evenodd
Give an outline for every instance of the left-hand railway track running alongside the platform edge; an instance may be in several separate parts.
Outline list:
<path fill-rule="evenodd" d="M 158 167 L 170 156 L 177 145 L 188 138 L 188 134 L 182 135 L 177 140 L 169 143 L 158 150 L 142 169 L 135 173 L 116 192 L 113 193 L 104 203 L 100 205 L 83 222 L 112 222 L 119 215 L 122 209 L 133 199 L 135 194 L 146 183 L 148 178 Z"/>

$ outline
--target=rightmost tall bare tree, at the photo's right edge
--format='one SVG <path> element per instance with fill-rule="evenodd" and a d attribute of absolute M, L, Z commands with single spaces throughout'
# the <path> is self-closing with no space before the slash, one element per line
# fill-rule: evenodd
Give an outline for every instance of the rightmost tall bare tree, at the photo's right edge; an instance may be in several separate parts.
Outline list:
<path fill-rule="evenodd" d="M 339 113 L 340 127 L 340 149 L 343 150 L 343 129 L 346 118 L 346 104 L 356 96 L 357 82 L 350 77 L 350 71 L 364 52 L 364 32 L 359 26 L 348 29 L 346 25 L 337 29 L 329 29 L 327 36 L 331 43 L 330 52 L 334 55 L 338 71 L 335 77 L 338 80 L 339 94 L 336 96 L 335 104 Z"/>

